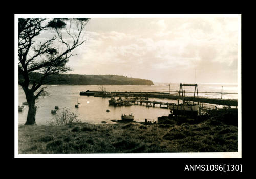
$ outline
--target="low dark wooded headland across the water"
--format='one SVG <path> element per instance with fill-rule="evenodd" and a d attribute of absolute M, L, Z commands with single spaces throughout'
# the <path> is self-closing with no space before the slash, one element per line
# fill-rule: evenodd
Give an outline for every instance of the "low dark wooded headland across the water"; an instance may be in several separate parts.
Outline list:
<path fill-rule="evenodd" d="M 33 80 L 40 79 L 41 75 L 41 73 L 31 73 L 31 83 Z M 22 80 L 22 76 L 19 76 L 19 80 Z M 47 81 L 49 83 L 46 84 L 51 85 L 154 85 L 151 80 L 119 75 L 61 74 L 49 76 Z"/>

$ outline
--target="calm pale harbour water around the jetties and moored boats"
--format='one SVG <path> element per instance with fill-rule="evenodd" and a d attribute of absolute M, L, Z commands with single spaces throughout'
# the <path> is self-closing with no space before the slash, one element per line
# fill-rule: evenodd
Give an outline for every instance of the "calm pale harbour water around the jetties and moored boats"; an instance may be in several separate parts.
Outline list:
<path fill-rule="evenodd" d="M 45 85 L 47 86 L 47 92 L 50 96 L 40 97 L 36 105 L 36 124 L 45 125 L 47 121 L 54 117 L 55 114 L 51 114 L 51 110 L 54 110 L 55 106 L 58 106 L 60 110 L 64 107 L 70 109 L 72 112 L 78 114 L 78 118 L 82 122 L 89 123 L 101 123 L 101 121 L 120 120 L 121 114 L 133 113 L 135 121 L 157 120 L 159 116 L 167 116 L 170 113 L 169 109 L 161 108 L 147 108 L 140 105 L 132 106 L 109 106 L 108 100 L 110 98 L 94 97 L 94 96 L 80 96 L 80 91 L 99 91 L 101 85 Z M 199 97 L 221 98 L 221 86 L 223 86 L 223 99 L 237 99 L 237 85 L 222 85 L 222 84 L 198 84 Z M 103 85 L 107 91 L 131 91 L 131 92 L 169 92 L 171 94 L 177 94 L 179 91 L 179 84 L 158 83 L 152 86 L 137 86 L 137 85 Z M 194 87 L 186 86 L 183 88 L 186 92 L 186 96 L 194 95 Z M 177 103 L 177 100 L 169 99 L 156 99 L 150 98 L 149 100 L 155 101 L 168 101 L 169 103 Z M 18 89 L 18 104 L 22 105 L 22 102 L 26 101 L 26 97 L 23 89 L 19 86 Z M 81 103 L 79 108 L 75 108 L 75 104 Z M 110 112 L 106 112 L 109 109 Z M 26 122 L 28 113 L 28 106 L 25 107 L 23 112 L 18 113 L 19 124 Z M 111 119 L 111 120 L 110 120 Z"/>

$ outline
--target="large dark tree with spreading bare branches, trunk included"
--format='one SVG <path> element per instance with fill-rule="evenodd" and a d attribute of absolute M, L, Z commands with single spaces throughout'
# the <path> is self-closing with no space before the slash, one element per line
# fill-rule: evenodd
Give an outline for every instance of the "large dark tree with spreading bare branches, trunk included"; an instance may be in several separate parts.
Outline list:
<path fill-rule="evenodd" d="M 89 19 L 18 19 L 18 84 L 22 86 L 29 106 L 25 125 L 35 124 L 35 100 L 46 93 L 42 85 L 58 80 L 49 76 L 72 70 L 66 64 L 76 55 L 71 52 L 86 41 L 83 35 Z M 40 34 L 43 37 L 40 38 Z M 40 75 L 32 78 L 35 72 Z"/>

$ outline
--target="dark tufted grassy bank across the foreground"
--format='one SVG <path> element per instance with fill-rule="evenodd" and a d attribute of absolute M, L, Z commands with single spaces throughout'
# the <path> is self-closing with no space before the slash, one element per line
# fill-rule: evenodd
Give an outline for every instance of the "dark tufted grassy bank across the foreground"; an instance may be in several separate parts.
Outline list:
<path fill-rule="evenodd" d="M 217 117 L 183 123 L 19 125 L 19 154 L 237 152 L 237 126 Z"/>

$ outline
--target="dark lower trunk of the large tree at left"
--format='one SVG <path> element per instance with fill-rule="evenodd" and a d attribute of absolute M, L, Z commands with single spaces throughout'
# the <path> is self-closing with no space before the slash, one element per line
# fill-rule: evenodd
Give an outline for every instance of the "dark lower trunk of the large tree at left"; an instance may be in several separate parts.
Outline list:
<path fill-rule="evenodd" d="M 36 106 L 34 93 L 32 90 L 26 90 L 25 94 L 29 105 L 29 111 L 25 125 L 35 125 Z"/>

